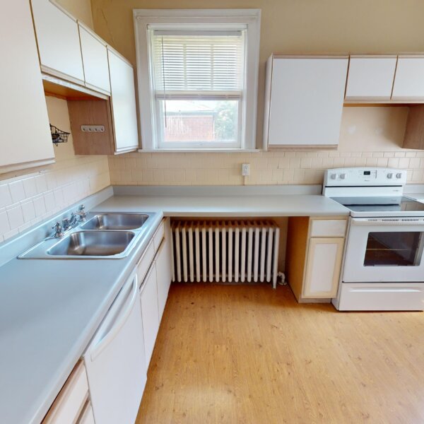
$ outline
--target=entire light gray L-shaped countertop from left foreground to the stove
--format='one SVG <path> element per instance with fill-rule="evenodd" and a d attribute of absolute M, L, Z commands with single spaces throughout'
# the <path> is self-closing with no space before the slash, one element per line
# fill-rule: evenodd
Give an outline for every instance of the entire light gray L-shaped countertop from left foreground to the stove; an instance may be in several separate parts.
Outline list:
<path fill-rule="evenodd" d="M 119 190 L 117 190 L 119 192 Z M 93 211 L 158 212 L 125 259 L 12 259 L 0 267 L 0 416 L 38 423 L 165 216 L 348 216 L 317 194 L 117 196 Z M 100 265 L 100 266 L 99 266 Z"/>

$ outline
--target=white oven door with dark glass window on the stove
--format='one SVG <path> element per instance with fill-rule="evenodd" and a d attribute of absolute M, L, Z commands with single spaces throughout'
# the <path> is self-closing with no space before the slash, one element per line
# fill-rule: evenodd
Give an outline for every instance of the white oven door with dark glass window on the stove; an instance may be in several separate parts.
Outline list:
<path fill-rule="evenodd" d="M 424 218 L 351 218 L 343 282 L 424 281 Z"/>

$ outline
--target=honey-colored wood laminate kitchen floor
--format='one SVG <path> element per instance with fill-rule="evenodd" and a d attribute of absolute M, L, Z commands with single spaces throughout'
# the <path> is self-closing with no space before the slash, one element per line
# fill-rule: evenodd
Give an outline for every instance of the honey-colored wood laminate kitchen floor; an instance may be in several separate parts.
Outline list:
<path fill-rule="evenodd" d="M 136 424 L 424 423 L 424 314 L 172 284 Z"/>

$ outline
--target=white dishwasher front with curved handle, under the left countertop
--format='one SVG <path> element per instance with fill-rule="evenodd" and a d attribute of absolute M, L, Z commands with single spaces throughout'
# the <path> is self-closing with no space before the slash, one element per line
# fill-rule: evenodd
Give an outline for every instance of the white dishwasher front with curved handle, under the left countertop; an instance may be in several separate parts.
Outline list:
<path fill-rule="evenodd" d="M 83 355 L 96 424 L 133 424 L 146 386 L 146 356 L 134 271 Z"/>

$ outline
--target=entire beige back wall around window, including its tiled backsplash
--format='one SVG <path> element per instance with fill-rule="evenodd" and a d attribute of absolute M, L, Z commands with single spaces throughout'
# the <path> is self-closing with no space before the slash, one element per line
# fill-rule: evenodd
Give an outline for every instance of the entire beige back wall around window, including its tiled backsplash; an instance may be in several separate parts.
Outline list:
<path fill-rule="evenodd" d="M 261 8 L 257 143 L 261 146 L 264 64 L 271 52 L 384 53 L 424 50 L 420 0 L 91 0 L 95 30 L 133 64 L 133 8 Z M 336 166 L 394 166 L 423 182 L 422 153 L 400 148 L 406 107 L 345 107 L 338 151 L 275 153 L 133 153 L 110 158 L 114 184 L 242 184 L 240 164 L 252 165 L 247 184 L 322 182 Z M 418 158 L 417 158 L 418 155 Z"/>

